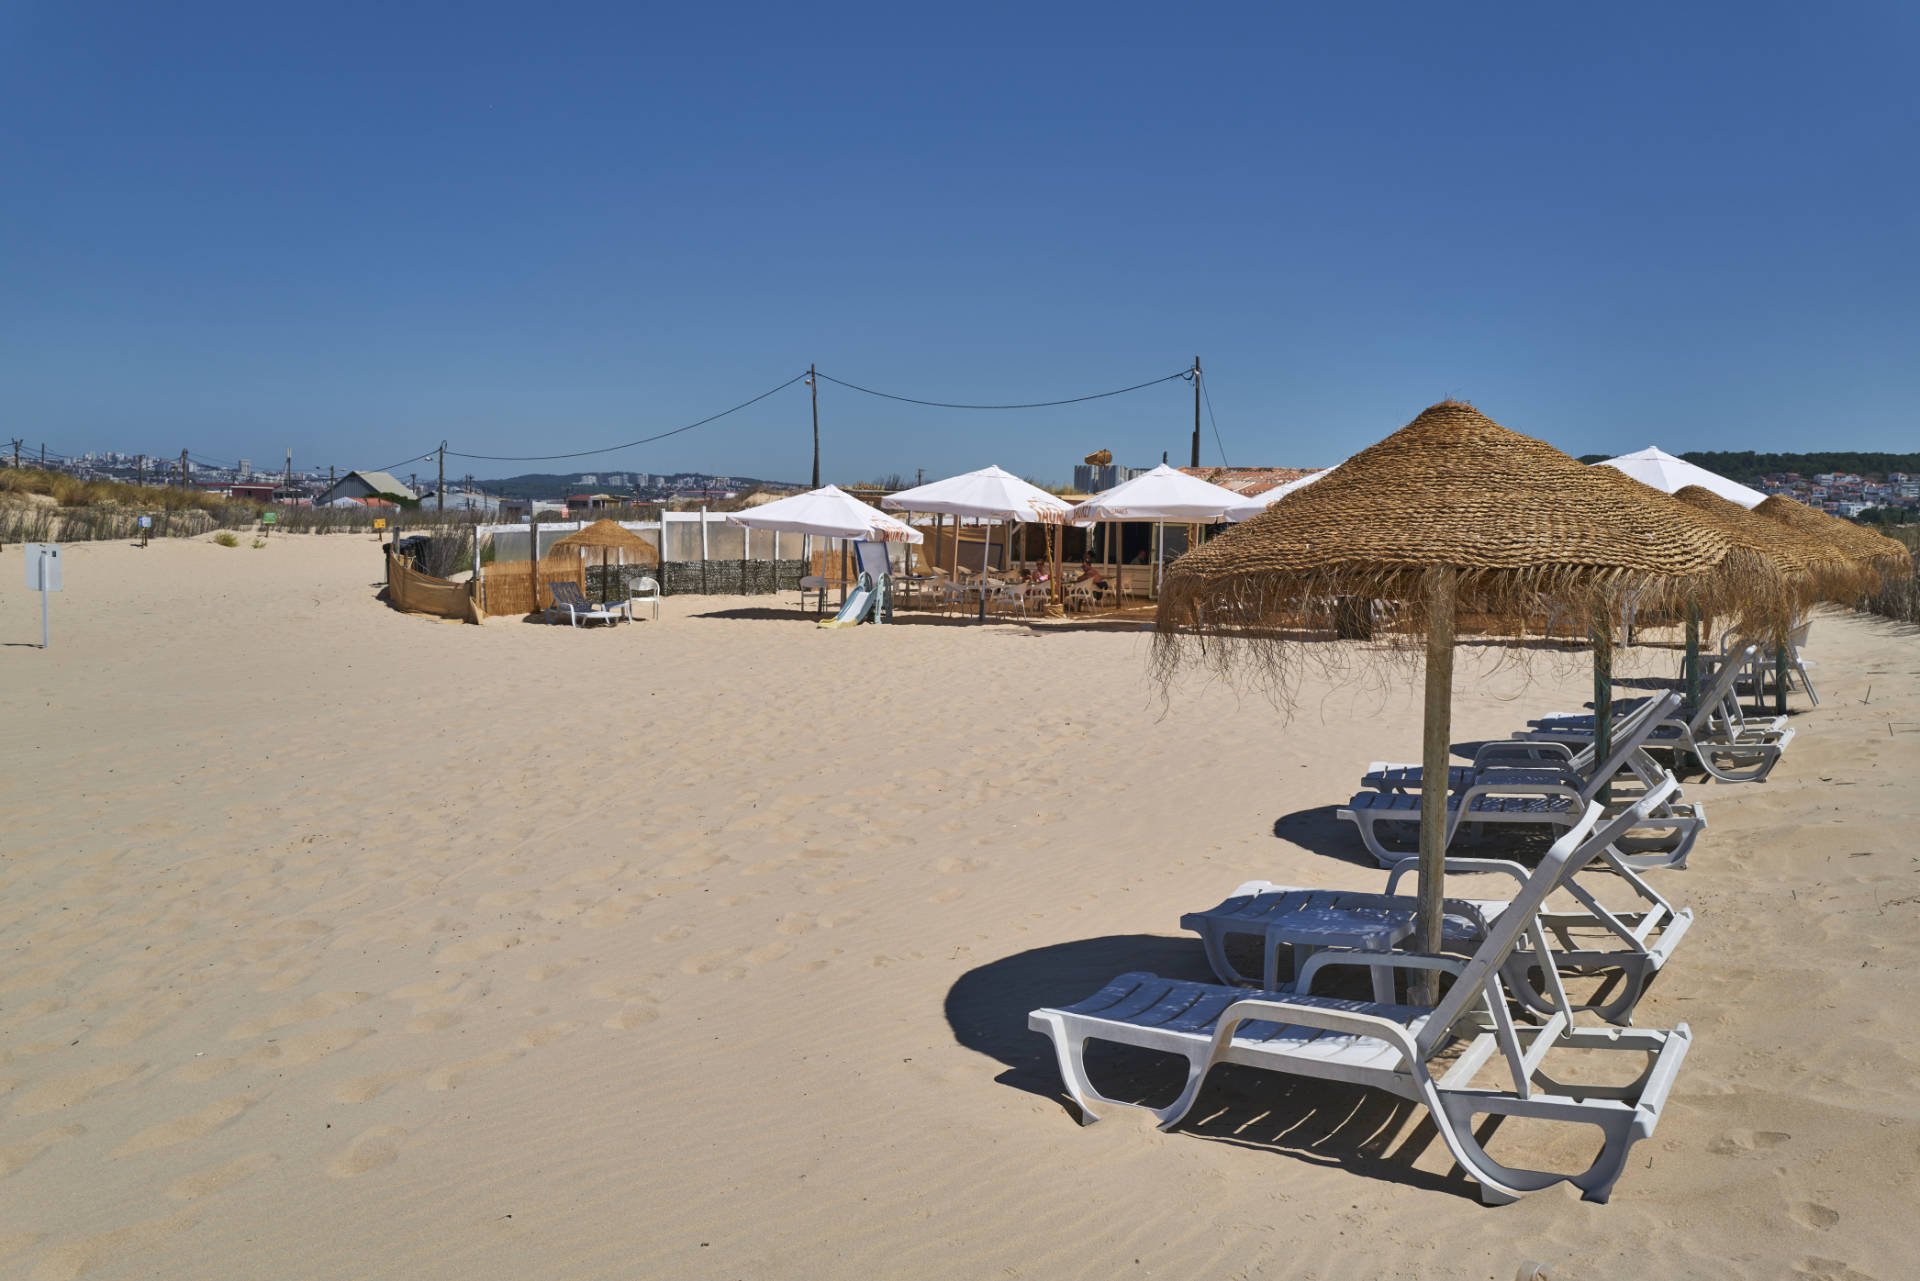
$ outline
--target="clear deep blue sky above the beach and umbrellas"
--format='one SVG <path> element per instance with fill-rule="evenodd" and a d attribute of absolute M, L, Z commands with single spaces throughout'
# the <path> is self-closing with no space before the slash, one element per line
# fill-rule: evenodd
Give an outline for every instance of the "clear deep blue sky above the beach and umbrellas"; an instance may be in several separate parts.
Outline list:
<path fill-rule="evenodd" d="M 1027 401 L 1198 353 L 1236 465 L 1444 396 L 1572 453 L 1920 447 L 1910 4 L 924 10 L 0 4 L 0 434 L 372 467 L 808 361 Z M 829 480 L 1064 480 L 1185 461 L 1192 394 L 820 417 Z M 808 453 L 793 386 L 449 471 Z"/>

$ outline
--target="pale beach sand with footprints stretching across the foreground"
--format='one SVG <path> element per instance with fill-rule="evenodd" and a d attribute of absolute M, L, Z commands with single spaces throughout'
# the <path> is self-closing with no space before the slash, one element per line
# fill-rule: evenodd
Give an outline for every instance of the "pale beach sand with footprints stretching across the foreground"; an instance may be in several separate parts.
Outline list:
<path fill-rule="evenodd" d="M 791 595 L 474 628 L 378 578 L 367 538 L 75 545 L 42 653 L 0 551 L 0 1275 L 1914 1271 L 1893 624 L 1816 624 L 1770 782 L 1688 784 L 1711 830 L 1659 885 L 1697 924 L 1636 1022 L 1695 1043 L 1613 1202 L 1486 1208 L 1336 1085 L 1233 1070 L 1181 1131 L 1081 1129 L 1025 1027 L 1204 976 L 1177 920 L 1242 880 L 1379 887 L 1332 807 L 1419 757 L 1415 672 L 1288 720 L 1162 703 L 1144 632 Z M 1492 657 L 1457 741 L 1590 697 L 1584 655 Z"/>

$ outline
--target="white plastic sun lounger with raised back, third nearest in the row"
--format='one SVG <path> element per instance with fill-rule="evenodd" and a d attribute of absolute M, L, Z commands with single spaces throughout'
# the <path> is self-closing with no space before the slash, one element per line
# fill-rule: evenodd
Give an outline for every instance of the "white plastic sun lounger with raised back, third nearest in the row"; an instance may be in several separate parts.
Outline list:
<path fill-rule="evenodd" d="M 1653 726 L 1678 707 L 1678 693 L 1655 697 L 1638 720 L 1624 724 L 1626 732 L 1617 737 L 1607 759 L 1584 776 L 1563 762 L 1551 761 L 1530 762 L 1526 768 L 1486 766 L 1478 774 L 1473 774 L 1467 780 L 1467 787 L 1446 795 L 1448 845 L 1453 843 L 1453 835 L 1461 824 L 1572 826 L 1586 805 L 1599 795 L 1599 789 L 1620 774 L 1626 762 L 1634 759 L 1634 753 L 1642 751 Z M 1665 776 L 1667 772 L 1663 770 L 1661 774 Z M 1405 858 L 1405 853 L 1386 849 L 1380 843 L 1379 826 L 1417 824 L 1421 820 L 1423 797 L 1425 793 L 1409 791 L 1359 791 L 1344 809 L 1334 810 L 1334 816 L 1354 824 L 1359 830 L 1359 839 L 1367 845 L 1367 853 L 1380 866 L 1390 868 Z M 1686 866 L 1686 857 L 1692 853 L 1693 841 L 1707 828 L 1707 816 L 1699 805 L 1663 801 L 1644 816 L 1640 828 L 1642 832 L 1624 837 L 1620 847 L 1626 866 Z M 1663 835 L 1647 835 L 1645 830 L 1649 828 Z"/>

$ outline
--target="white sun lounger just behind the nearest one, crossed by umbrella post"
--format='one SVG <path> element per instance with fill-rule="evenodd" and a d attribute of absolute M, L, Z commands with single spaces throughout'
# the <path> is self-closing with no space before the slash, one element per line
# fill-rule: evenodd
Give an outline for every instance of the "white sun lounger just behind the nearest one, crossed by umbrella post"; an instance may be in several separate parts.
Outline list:
<path fill-rule="evenodd" d="M 1653 797 L 1649 807 L 1670 801 L 1676 789 L 1678 784 L 1668 776 L 1659 786 L 1659 795 L 1649 793 Z M 1622 862 L 1619 851 L 1611 847 L 1603 849 L 1590 860 L 1588 868 L 1601 864 L 1615 872 L 1640 897 L 1644 903 L 1640 910 L 1617 912 L 1607 908 L 1580 883 L 1580 878 L 1569 876 L 1563 889 L 1584 910 L 1542 910 L 1540 920 L 1553 939 L 1553 964 L 1563 974 L 1619 974 L 1617 985 L 1601 987 L 1596 993 L 1603 995 L 1601 1001 L 1576 1004 L 1574 1008 L 1590 1010 L 1607 1022 L 1628 1024 L 1642 993 L 1645 993 L 1653 976 L 1667 964 L 1680 939 L 1686 937 L 1688 928 L 1693 924 L 1693 910 L 1674 908 L 1672 903 Z M 1181 928 L 1200 935 L 1208 964 L 1223 983 L 1279 991 L 1279 949 L 1290 922 L 1309 912 L 1321 920 L 1340 914 L 1350 914 L 1356 922 L 1382 918 L 1411 920 L 1415 899 L 1394 893 L 1400 878 L 1409 872 L 1419 872 L 1419 858 L 1405 858 L 1394 866 L 1392 876 L 1386 880 L 1386 893 L 1340 893 L 1275 885 L 1273 882 L 1246 882 L 1219 906 L 1181 916 Z M 1446 860 L 1446 874 L 1450 878 L 1473 872 L 1505 874 L 1523 885 L 1526 883 L 1526 870 L 1517 862 L 1498 858 Z M 1442 947 L 1446 951 L 1473 951 L 1486 937 L 1488 926 L 1505 910 L 1505 899 L 1446 899 L 1442 910 Z M 1596 933 L 1599 935 L 1597 939 L 1594 937 Z M 1242 937 L 1260 949 L 1261 974 L 1244 974 L 1233 964 L 1229 956 L 1229 939 L 1233 937 Z M 1296 968 L 1302 964 L 1298 951 L 1294 964 Z M 1532 960 L 1528 955 L 1515 953 L 1507 970 L 1507 985 L 1511 995 L 1523 1004 L 1540 1014 L 1551 1014 L 1551 1006 L 1540 995 L 1544 976 L 1538 981 L 1532 978 Z M 1382 997 L 1379 985 L 1375 995 Z"/>

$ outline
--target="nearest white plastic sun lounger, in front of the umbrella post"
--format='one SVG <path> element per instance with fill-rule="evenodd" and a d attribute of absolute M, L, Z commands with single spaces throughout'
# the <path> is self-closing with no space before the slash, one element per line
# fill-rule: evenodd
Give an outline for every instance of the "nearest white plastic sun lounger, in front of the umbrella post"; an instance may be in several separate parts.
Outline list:
<path fill-rule="evenodd" d="M 1394 968 L 1455 974 L 1452 989 L 1430 1010 L 1311 995 L 1315 976 L 1331 966 L 1382 964 L 1380 953 L 1329 949 L 1306 964 L 1296 993 L 1248 993 L 1152 974 L 1123 974 L 1077 1004 L 1033 1010 L 1027 1026 L 1052 1039 L 1060 1076 L 1068 1095 L 1079 1104 L 1081 1124 L 1096 1122 L 1096 1108 L 1102 1104 L 1139 1106 L 1108 1099 L 1087 1077 L 1087 1043 L 1110 1041 L 1187 1060 L 1187 1085 L 1179 1099 L 1164 1108 L 1148 1108 L 1162 1129 L 1171 1129 L 1187 1116 L 1215 1064 L 1244 1064 L 1384 1089 L 1423 1104 L 1448 1152 L 1480 1183 L 1480 1198 L 1490 1204 L 1563 1181 L 1578 1187 L 1588 1200 L 1607 1200 L 1632 1145 L 1651 1135 L 1659 1124 L 1692 1033 L 1686 1024 L 1672 1031 L 1574 1027 L 1536 916 L 1569 872 L 1644 820 L 1649 807 L 1651 793 L 1596 832 L 1601 812 L 1597 805 L 1588 805 L 1526 878 L 1526 885 L 1471 958 L 1384 953 L 1384 962 Z M 1519 949 L 1534 953 L 1553 1003 L 1553 1014 L 1540 1026 L 1515 1026 L 1507 1010 L 1501 972 Z M 1455 1045 L 1459 1056 L 1436 1077 L 1440 1064 L 1434 1060 Z M 1645 1054 L 1645 1066 L 1624 1085 L 1561 1083 L 1546 1068 L 1546 1058 L 1555 1049 L 1634 1051 Z M 1496 1056 L 1511 1085 L 1473 1085 L 1475 1076 Z M 1572 1175 L 1507 1166 L 1480 1147 L 1475 1137 L 1476 1116 L 1588 1124 L 1601 1131 L 1603 1143 L 1594 1164 Z"/>

